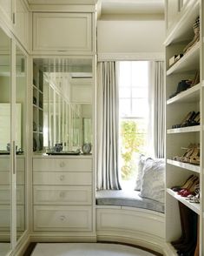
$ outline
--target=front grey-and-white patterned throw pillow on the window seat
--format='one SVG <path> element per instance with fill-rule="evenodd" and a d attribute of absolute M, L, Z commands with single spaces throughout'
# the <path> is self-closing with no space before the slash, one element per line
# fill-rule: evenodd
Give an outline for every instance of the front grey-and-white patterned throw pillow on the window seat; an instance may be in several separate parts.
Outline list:
<path fill-rule="evenodd" d="M 164 159 L 146 160 L 141 179 L 141 197 L 164 203 L 164 171 Z"/>

